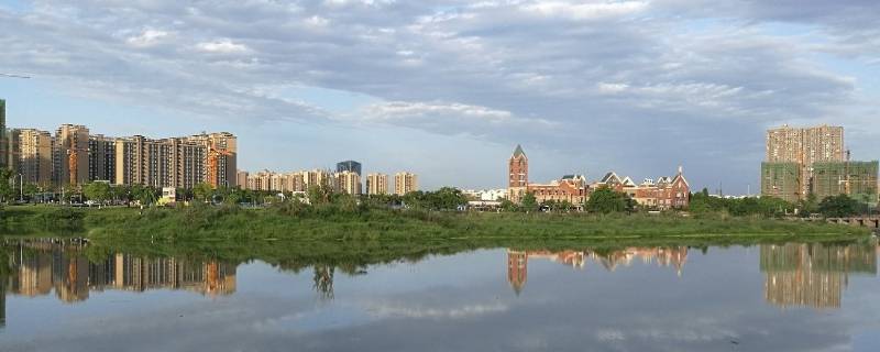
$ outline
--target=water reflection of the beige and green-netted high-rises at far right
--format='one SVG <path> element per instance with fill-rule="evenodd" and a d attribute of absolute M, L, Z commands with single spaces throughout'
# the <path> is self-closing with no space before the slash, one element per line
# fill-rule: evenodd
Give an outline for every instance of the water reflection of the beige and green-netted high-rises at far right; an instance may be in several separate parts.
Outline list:
<path fill-rule="evenodd" d="M 849 274 L 877 274 L 876 248 L 876 244 L 761 245 L 765 299 L 783 308 L 840 308 Z"/>

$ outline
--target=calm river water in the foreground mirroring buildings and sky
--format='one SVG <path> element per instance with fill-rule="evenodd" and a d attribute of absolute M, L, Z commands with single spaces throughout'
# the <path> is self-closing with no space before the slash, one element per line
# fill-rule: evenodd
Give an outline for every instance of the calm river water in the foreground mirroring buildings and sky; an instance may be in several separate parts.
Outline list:
<path fill-rule="evenodd" d="M 3 249 L 0 351 L 880 351 L 876 241 L 297 271 Z"/>

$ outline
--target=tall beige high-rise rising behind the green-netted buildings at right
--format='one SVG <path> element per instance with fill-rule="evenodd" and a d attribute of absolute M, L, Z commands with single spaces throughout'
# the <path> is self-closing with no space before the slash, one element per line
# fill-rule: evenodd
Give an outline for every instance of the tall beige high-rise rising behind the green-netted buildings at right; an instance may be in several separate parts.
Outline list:
<path fill-rule="evenodd" d="M 767 163 L 795 163 L 799 173 L 798 199 L 810 194 L 813 184 L 813 164 L 820 162 L 844 162 L 844 128 L 821 125 L 791 128 L 783 125 L 767 131 Z M 766 177 L 762 177 L 762 180 Z M 761 189 L 772 187 L 761 186 Z M 766 194 L 770 195 L 770 194 Z M 788 195 L 787 195 L 788 196 Z"/>

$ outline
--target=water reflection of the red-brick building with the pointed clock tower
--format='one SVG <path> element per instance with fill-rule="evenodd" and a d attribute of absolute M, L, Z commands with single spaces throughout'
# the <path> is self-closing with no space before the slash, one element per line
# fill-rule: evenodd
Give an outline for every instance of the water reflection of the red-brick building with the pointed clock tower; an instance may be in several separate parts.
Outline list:
<path fill-rule="evenodd" d="M 586 267 L 587 260 L 602 265 L 606 271 L 614 272 L 618 266 L 630 266 L 640 258 L 645 264 L 657 263 L 658 266 L 675 268 L 681 276 L 682 268 L 688 262 L 688 248 L 627 248 L 616 251 L 514 251 L 507 250 L 507 283 L 519 295 L 528 280 L 529 260 L 547 260 L 560 263 L 572 268 Z"/>

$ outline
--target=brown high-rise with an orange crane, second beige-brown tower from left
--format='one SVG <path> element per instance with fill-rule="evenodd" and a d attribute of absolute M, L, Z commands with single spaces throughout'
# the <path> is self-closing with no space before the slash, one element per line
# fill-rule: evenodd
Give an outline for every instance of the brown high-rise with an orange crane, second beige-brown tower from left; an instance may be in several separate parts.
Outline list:
<path fill-rule="evenodd" d="M 89 180 L 89 129 L 78 124 L 62 124 L 55 132 L 55 184 L 77 186 Z"/>

